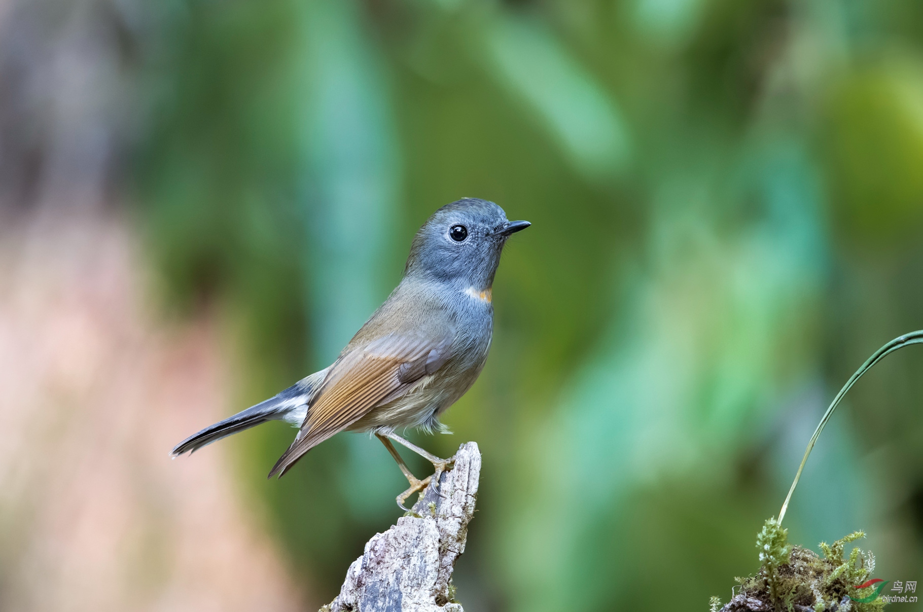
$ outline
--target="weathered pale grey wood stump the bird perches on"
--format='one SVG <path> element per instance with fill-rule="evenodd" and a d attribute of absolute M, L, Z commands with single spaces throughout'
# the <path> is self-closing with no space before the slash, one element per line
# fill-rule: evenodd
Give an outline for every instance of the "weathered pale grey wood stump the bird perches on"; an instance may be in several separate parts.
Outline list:
<path fill-rule="evenodd" d="M 346 572 L 340 594 L 320 612 L 463 612 L 451 587 L 474 516 L 481 453 L 459 447 L 455 465 L 430 485 L 413 514 L 366 543 Z"/>

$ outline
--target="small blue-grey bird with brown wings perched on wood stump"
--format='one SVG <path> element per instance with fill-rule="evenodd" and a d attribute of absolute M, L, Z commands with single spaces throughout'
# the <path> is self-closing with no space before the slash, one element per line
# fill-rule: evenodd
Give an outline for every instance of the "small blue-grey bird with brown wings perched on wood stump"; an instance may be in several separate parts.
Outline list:
<path fill-rule="evenodd" d="M 462 198 L 433 213 L 414 235 L 403 278 L 336 361 L 265 402 L 202 429 L 172 455 L 271 420 L 299 427 L 270 470 L 285 474 L 308 450 L 341 431 L 374 433 L 410 488 L 398 506 L 453 460 L 439 459 L 395 433 L 407 427 L 447 431 L 439 415 L 471 389 L 484 367 L 494 329 L 491 286 L 510 234 L 531 225 L 507 220 L 494 202 Z M 418 480 L 391 440 L 433 463 Z"/>

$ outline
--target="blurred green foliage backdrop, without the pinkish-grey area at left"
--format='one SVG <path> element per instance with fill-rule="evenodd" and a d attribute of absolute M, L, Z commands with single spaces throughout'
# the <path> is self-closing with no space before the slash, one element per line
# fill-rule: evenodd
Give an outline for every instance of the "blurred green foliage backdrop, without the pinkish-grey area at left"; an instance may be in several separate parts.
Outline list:
<path fill-rule="evenodd" d="M 726 601 L 833 393 L 923 328 L 917 0 L 83 4 L 127 24 L 113 184 L 163 312 L 239 342 L 228 414 L 328 365 L 439 206 L 533 222 L 454 435 L 414 438 L 484 453 L 470 612 Z M 864 528 L 881 576 L 923 571 L 921 372 L 847 398 L 792 541 Z M 319 605 L 404 484 L 352 434 L 266 482 L 292 435 L 222 444 Z"/>

